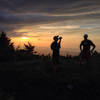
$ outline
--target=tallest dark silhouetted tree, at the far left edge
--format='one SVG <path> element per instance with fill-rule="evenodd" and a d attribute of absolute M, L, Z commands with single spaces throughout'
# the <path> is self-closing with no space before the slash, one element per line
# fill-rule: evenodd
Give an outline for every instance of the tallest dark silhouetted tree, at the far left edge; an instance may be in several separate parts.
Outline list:
<path fill-rule="evenodd" d="M 14 54 L 14 44 L 11 39 L 6 36 L 5 32 L 0 34 L 0 59 L 11 60 Z"/>

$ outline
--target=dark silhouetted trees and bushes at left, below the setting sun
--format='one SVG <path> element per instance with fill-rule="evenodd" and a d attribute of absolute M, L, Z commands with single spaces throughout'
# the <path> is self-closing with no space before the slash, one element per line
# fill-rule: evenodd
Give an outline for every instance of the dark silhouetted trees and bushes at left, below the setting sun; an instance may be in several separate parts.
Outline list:
<path fill-rule="evenodd" d="M 13 60 L 30 60 L 36 57 L 35 46 L 28 42 L 24 48 L 15 48 L 14 43 L 5 32 L 0 34 L 0 62 Z"/>

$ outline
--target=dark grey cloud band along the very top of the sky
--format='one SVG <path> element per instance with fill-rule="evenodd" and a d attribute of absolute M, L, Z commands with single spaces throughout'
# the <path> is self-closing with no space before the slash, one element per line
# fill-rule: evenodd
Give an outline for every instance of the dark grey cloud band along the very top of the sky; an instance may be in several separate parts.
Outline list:
<path fill-rule="evenodd" d="M 75 13 L 99 6 L 98 0 L 0 0 L 0 8 L 10 13 Z"/>

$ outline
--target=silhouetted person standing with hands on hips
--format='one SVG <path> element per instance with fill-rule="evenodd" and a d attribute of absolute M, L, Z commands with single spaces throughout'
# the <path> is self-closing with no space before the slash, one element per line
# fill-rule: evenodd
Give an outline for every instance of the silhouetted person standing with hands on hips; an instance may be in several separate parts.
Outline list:
<path fill-rule="evenodd" d="M 80 50 L 81 50 L 80 64 L 83 59 L 85 59 L 88 64 L 88 61 L 91 57 L 91 53 L 93 52 L 95 47 L 96 47 L 95 44 L 91 40 L 88 40 L 88 35 L 84 34 L 84 40 L 80 44 Z"/>

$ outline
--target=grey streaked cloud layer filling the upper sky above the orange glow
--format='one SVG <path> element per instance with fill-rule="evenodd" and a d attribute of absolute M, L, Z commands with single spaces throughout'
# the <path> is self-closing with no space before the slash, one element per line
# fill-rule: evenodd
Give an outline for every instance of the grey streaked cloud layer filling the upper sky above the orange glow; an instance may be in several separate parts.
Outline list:
<path fill-rule="evenodd" d="M 92 20 L 100 24 L 99 0 L 0 0 L 0 30 L 12 33 L 24 26 L 65 21 L 69 25 L 41 27 L 42 29 L 78 28 L 71 24 L 76 23 L 77 26 L 80 26 L 85 21 L 88 24 Z M 15 36 L 17 36 L 16 33 Z"/>

